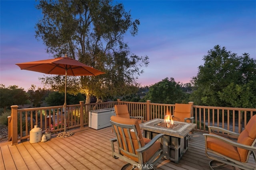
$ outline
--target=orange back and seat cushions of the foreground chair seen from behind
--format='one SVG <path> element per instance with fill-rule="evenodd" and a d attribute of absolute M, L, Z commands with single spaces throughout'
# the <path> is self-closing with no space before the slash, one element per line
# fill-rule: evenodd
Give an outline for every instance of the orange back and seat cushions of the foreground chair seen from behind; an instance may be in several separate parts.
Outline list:
<path fill-rule="evenodd" d="M 143 138 L 142 137 L 142 133 L 140 131 L 140 126 L 139 126 L 139 123 L 138 123 L 138 120 L 137 119 L 126 119 L 126 118 L 122 118 L 122 117 L 116 117 L 116 116 L 111 116 L 110 119 L 116 123 L 122 123 L 122 124 L 126 124 L 126 125 L 135 125 L 136 126 L 136 130 L 137 130 L 137 133 L 138 133 L 138 139 L 135 135 L 135 133 L 132 133 L 131 132 L 131 136 L 132 136 L 132 143 L 134 145 L 134 150 L 135 150 L 135 154 L 138 154 L 138 152 L 136 152 L 136 149 L 139 149 L 139 143 L 138 141 L 140 141 L 140 145 L 141 147 L 144 147 L 145 146 L 145 143 L 149 143 L 150 142 L 150 139 L 146 139 L 146 138 Z M 114 127 L 116 129 L 116 127 Z M 128 149 L 125 148 L 125 143 L 122 142 L 123 146 L 124 146 L 124 150 L 126 151 L 129 151 L 129 152 L 132 152 L 132 145 L 129 145 L 129 137 L 128 137 L 128 133 L 125 133 L 125 138 L 126 138 L 126 141 L 128 143 Z M 123 137 L 121 137 L 123 139 Z M 120 140 L 118 140 L 120 141 Z M 121 146 L 121 143 L 118 143 L 119 146 Z M 146 150 L 145 152 L 142 153 L 142 156 L 143 156 L 143 162 L 147 162 L 151 157 L 152 155 L 160 148 L 161 144 L 160 142 L 156 141 L 156 143 L 154 143 L 154 145 L 152 145 L 148 150 Z M 138 162 L 138 158 L 137 157 L 134 157 L 134 156 L 130 156 L 128 154 L 126 154 L 125 152 L 122 152 L 121 153 L 124 155 L 124 156 L 127 156 L 128 158 Z"/>

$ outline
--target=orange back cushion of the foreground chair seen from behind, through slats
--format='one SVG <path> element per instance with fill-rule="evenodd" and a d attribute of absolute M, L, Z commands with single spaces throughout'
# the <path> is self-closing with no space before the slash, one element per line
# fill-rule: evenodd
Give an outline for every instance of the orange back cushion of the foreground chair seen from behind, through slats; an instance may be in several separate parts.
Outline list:
<path fill-rule="evenodd" d="M 124 136 L 123 136 L 122 133 L 119 133 L 121 139 L 119 139 L 118 136 L 117 136 L 117 138 L 118 138 L 117 140 L 118 140 L 118 145 L 119 145 L 118 147 L 122 148 L 122 146 L 123 146 L 123 149 L 127 152 L 130 152 L 130 153 L 133 153 L 133 149 L 132 149 L 132 145 L 133 145 L 134 152 L 135 152 L 136 155 L 138 155 L 138 152 L 136 151 L 136 149 L 139 149 L 140 146 L 141 147 L 145 146 L 145 143 L 144 143 L 144 140 L 143 140 L 143 137 L 142 137 L 142 133 L 140 131 L 140 126 L 139 126 L 138 120 L 137 119 L 130 119 L 130 118 L 126 119 L 126 118 L 117 117 L 117 116 L 111 116 L 110 119 L 111 119 L 111 121 L 116 122 L 116 123 L 120 123 L 120 124 L 135 125 L 138 136 L 136 136 L 136 134 L 134 132 L 132 132 L 131 129 L 129 129 L 129 131 L 131 132 L 132 144 L 129 141 L 129 135 L 128 135 L 127 129 L 124 129 Z M 122 132 L 121 127 L 116 127 L 114 125 L 114 130 L 116 131 L 116 133 L 118 132 L 117 128 L 118 128 L 119 132 Z M 124 139 L 127 142 L 128 148 L 126 148 Z M 128 158 L 138 162 L 138 157 L 131 156 L 131 155 L 127 154 L 126 152 L 123 152 L 122 150 L 120 150 L 120 152 L 124 156 L 127 156 Z M 146 152 L 144 152 L 143 154 L 146 154 Z M 146 159 L 146 156 L 144 156 L 144 158 Z"/>

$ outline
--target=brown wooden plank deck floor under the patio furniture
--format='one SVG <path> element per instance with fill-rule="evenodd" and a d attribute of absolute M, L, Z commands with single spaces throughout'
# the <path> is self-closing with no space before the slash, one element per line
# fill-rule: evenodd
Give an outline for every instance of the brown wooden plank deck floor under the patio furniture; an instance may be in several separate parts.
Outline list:
<path fill-rule="evenodd" d="M 114 137 L 111 127 L 104 129 L 72 130 L 74 135 L 46 142 L 0 143 L 0 170 L 120 170 L 126 162 L 112 158 L 109 139 Z M 251 160 L 253 160 L 251 156 Z M 191 134 L 189 149 L 178 164 L 165 160 L 158 162 L 156 170 L 208 170 L 209 158 L 204 153 L 204 136 Z M 225 166 L 224 169 L 232 169 Z"/>

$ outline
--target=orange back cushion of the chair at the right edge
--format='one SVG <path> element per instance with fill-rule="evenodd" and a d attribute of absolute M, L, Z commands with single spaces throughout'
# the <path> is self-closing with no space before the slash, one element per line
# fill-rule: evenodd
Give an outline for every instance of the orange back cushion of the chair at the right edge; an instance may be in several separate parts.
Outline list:
<path fill-rule="evenodd" d="M 252 116 L 245 129 L 240 133 L 237 143 L 252 146 L 256 140 L 256 115 Z M 241 162 L 246 162 L 249 150 L 238 148 Z"/>

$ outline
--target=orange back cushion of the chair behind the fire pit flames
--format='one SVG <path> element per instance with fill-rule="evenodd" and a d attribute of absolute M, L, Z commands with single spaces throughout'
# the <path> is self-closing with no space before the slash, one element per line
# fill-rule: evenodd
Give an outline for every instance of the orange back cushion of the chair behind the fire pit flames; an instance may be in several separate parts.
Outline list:
<path fill-rule="evenodd" d="M 192 105 L 190 104 L 178 104 L 176 103 L 174 106 L 174 121 L 182 121 L 184 122 L 185 118 L 191 117 Z M 191 121 L 188 119 L 188 123 Z"/>

